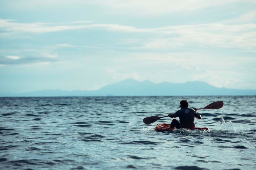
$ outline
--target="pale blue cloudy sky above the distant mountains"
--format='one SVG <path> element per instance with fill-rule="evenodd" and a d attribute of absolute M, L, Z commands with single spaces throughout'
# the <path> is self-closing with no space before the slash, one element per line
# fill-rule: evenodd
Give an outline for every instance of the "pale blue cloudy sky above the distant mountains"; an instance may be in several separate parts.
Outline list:
<path fill-rule="evenodd" d="M 0 93 L 128 78 L 256 89 L 255 0 L 1 0 Z"/>

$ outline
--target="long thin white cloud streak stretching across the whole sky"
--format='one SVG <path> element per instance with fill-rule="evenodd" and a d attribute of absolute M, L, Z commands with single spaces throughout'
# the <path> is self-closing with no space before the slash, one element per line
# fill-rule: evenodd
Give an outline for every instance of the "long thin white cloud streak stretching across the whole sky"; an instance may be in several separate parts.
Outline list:
<path fill-rule="evenodd" d="M 0 28 L 7 32 L 29 32 L 29 33 L 47 33 L 58 32 L 72 29 L 105 29 L 111 31 L 130 32 L 130 33 L 155 33 L 162 35 L 183 34 L 189 35 L 196 32 L 239 32 L 252 31 L 256 28 L 256 24 L 241 24 L 241 25 L 225 25 L 221 23 L 210 24 L 193 24 L 193 25 L 178 25 L 164 26 L 156 28 L 136 28 L 134 26 L 125 26 L 119 24 L 87 24 L 87 25 L 60 25 L 54 26 L 51 23 L 20 23 L 10 19 L 0 19 Z"/>

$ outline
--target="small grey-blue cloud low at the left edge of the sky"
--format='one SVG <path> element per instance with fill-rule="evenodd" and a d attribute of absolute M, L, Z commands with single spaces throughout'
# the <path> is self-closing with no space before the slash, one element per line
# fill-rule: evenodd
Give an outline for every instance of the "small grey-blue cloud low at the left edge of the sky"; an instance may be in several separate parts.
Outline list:
<path fill-rule="evenodd" d="M 31 63 L 57 62 L 56 58 L 51 57 L 32 57 L 32 56 L 3 56 L 0 55 L 0 65 L 22 65 Z"/>

